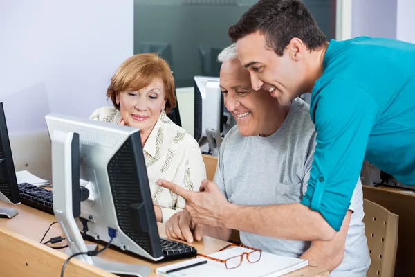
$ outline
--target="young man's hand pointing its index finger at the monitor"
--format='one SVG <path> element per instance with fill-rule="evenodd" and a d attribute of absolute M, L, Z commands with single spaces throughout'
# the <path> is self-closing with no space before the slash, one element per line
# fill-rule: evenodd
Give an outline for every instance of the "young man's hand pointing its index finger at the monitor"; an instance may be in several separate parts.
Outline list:
<path fill-rule="evenodd" d="M 203 180 L 199 192 L 186 190 L 165 180 L 158 180 L 157 184 L 185 199 L 185 211 L 189 213 L 194 224 L 225 226 L 228 207 L 232 204 L 228 202 L 216 184 Z"/>

